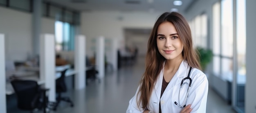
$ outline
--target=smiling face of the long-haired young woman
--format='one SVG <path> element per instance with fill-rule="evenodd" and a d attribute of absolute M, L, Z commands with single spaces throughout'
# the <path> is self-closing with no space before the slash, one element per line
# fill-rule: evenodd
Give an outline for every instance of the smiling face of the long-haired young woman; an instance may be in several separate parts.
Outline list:
<path fill-rule="evenodd" d="M 171 22 L 164 22 L 157 29 L 157 48 L 166 60 L 182 58 L 183 44 Z"/>

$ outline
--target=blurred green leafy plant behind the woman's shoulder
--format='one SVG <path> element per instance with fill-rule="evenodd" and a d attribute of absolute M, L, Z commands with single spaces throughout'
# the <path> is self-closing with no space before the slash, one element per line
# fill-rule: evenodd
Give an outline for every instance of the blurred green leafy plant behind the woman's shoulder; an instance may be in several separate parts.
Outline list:
<path fill-rule="evenodd" d="M 202 71 L 204 71 L 208 63 L 210 63 L 213 58 L 213 52 L 210 49 L 202 47 L 197 47 L 196 49 L 198 50 Z"/>

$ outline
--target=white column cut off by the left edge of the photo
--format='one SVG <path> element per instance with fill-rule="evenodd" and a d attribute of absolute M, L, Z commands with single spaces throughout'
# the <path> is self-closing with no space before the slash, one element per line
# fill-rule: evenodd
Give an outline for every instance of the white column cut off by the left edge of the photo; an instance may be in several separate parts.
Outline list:
<path fill-rule="evenodd" d="M 6 113 L 4 34 L 0 34 L 0 109 Z"/>

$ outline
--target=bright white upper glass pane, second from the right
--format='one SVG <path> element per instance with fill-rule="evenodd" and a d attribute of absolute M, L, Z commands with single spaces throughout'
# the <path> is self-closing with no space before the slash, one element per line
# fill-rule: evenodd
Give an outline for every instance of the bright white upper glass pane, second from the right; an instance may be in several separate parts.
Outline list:
<path fill-rule="evenodd" d="M 233 56 L 233 2 L 232 0 L 221 1 L 221 54 Z"/>

